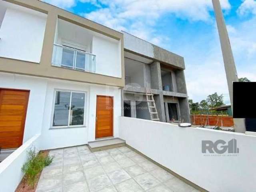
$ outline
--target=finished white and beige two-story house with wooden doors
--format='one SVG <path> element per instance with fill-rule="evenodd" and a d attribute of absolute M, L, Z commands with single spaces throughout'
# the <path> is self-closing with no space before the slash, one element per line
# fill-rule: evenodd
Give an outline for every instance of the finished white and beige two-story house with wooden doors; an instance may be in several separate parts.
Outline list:
<path fill-rule="evenodd" d="M 0 148 L 118 137 L 123 34 L 40 1 L 0 1 Z"/>

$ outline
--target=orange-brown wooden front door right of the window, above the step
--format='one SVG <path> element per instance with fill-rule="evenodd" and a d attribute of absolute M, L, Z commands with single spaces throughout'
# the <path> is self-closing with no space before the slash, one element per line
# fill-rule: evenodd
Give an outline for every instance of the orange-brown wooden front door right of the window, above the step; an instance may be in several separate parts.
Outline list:
<path fill-rule="evenodd" d="M 97 96 L 96 138 L 113 136 L 113 98 Z"/>

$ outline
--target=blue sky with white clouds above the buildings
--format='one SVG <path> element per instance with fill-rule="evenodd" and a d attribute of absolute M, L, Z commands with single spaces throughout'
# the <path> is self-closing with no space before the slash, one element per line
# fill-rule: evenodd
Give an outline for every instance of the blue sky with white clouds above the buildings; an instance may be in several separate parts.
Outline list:
<path fill-rule="evenodd" d="M 211 0 L 44 0 L 184 57 L 188 96 L 224 95 L 226 76 Z M 220 0 L 239 77 L 256 81 L 256 0 Z"/>

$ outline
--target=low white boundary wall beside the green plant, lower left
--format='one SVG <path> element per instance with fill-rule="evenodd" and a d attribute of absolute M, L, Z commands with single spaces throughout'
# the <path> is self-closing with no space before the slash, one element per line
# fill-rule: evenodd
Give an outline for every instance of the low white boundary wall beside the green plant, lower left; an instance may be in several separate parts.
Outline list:
<path fill-rule="evenodd" d="M 39 137 L 40 134 L 36 134 L 0 163 L 0 191 L 16 190 L 24 175 L 21 168 L 26 162 L 28 150 L 34 147 L 40 149 Z"/>

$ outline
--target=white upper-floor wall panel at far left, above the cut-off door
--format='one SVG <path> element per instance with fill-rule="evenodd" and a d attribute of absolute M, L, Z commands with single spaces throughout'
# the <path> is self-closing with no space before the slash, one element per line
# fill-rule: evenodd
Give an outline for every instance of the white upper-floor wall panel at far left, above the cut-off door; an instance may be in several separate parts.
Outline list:
<path fill-rule="evenodd" d="M 0 6 L 4 6 L 0 2 Z M 46 14 L 20 6 L 7 7 L 0 28 L 0 57 L 40 62 Z"/>

